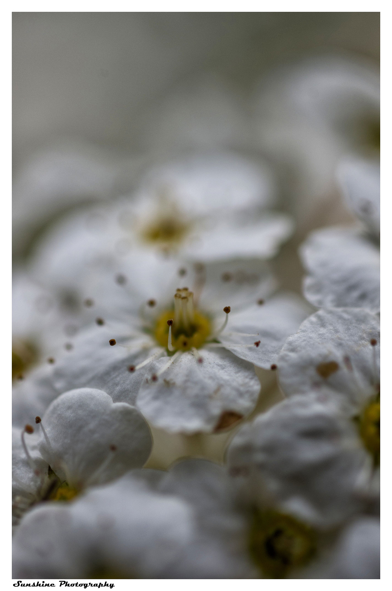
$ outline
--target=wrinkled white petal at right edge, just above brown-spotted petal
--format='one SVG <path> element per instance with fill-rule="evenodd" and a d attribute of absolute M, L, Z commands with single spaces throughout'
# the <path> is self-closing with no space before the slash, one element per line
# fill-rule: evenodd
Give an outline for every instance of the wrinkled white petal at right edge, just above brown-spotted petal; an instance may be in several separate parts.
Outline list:
<path fill-rule="evenodd" d="M 356 230 L 312 232 L 300 248 L 305 297 L 317 307 L 380 310 L 380 250 Z"/>

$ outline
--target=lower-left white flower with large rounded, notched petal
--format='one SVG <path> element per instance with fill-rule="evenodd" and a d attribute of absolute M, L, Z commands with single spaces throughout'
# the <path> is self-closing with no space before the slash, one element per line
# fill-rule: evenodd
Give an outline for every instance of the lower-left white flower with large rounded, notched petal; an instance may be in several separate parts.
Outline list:
<path fill-rule="evenodd" d="M 113 404 L 106 392 L 92 388 L 60 395 L 43 418 L 35 418 L 35 425 L 40 439 L 31 435 L 34 429 L 27 424 L 13 458 L 15 496 L 24 494 L 30 504 L 46 498 L 70 499 L 87 486 L 142 467 L 152 448 L 139 411 L 125 402 Z M 28 436 L 35 437 L 31 452 Z M 15 508 L 18 511 L 20 503 Z"/>

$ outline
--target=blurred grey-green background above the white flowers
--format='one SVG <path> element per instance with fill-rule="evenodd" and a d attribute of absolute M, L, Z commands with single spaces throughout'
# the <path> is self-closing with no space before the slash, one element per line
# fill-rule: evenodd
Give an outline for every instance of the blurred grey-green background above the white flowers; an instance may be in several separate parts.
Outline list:
<path fill-rule="evenodd" d="M 312 163 L 299 183 L 260 140 L 270 115 L 257 92 L 304 59 L 377 71 L 379 37 L 378 12 L 14 13 L 15 261 L 71 207 L 126 194 L 149 165 L 214 147 L 276 168 L 298 228 L 277 271 L 299 291 L 290 253 L 310 229 L 349 215 L 322 175 L 311 178 Z"/>

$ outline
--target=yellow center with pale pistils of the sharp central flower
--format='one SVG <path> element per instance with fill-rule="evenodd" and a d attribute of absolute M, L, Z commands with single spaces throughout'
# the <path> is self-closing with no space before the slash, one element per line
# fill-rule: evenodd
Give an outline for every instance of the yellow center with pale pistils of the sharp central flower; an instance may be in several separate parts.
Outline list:
<path fill-rule="evenodd" d="M 211 322 L 194 309 L 193 293 L 187 287 L 178 289 L 174 296 L 174 309 L 165 310 L 155 324 L 154 336 L 159 345 L 168 346 L 169 325 L 172 320 L 172 350 L 188 351 L 204 345 L 211 334 Z"/>

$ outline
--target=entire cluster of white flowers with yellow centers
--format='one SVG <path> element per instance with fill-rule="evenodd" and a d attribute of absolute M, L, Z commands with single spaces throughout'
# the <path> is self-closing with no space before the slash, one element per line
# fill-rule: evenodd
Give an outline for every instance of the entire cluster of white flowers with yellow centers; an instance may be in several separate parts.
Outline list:
<path fill-rule="evenodd" d="M 272 169 L 221 149 L 72 211 L 18 268 L 15 577 L 379 578 L 377 84 L 344 72 L 258 98 L 269 126 L 286 105 L 351 145 L 357 222 L 307 236 L 303 297 L 276 277 L 294 222 Z"/>

